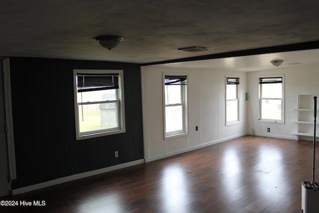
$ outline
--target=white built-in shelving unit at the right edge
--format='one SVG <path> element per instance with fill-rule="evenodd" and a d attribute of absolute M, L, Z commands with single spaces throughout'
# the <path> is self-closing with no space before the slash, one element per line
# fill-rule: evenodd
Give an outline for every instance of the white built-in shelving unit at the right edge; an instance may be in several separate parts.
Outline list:
<path fill-rule="evenodd" d="M 297 120 L 292 121 L 297 124 L 297 132 L 292 132 L 292 134 L 297 135 L 298 140 L 310 140 L 310 137 L 314 137 L 314 96 L 318 97 L 318 95 L 298 95 L 297 108 L 292 109 L 298 113 Z M 319 133 L 316 134 L 316 137 L 319 137 Z"/>

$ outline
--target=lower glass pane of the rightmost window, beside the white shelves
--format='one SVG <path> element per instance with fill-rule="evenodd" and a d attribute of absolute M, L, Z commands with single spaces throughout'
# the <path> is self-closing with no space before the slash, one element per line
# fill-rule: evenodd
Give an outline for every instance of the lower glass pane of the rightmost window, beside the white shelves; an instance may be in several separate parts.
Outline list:
<path fill-rule="evenodd" d="M 282 120 L 281 102 L 282 100 L 262 100 L 261 119 Z"/>

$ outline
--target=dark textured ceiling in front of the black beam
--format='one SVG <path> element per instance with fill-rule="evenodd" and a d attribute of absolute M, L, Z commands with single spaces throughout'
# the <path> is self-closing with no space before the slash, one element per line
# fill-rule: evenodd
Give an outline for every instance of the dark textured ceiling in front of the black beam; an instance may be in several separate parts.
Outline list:
<path fill-rule="evenodd" d="M 0 56 L 143 64 L 318 41 L 319 1 L 7 0 L 0 29 Z M 103 34 L 124 41 L 108 50 L 93 38 Z"/>

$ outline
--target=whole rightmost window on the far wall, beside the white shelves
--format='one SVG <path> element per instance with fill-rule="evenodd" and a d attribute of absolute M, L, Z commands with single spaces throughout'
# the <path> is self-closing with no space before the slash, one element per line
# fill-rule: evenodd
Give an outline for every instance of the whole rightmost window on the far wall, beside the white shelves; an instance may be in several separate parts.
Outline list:
<path fill-rule="evenodd" d="M 259 78 L 259 120 L 284 123 L 283 76 Z"/>

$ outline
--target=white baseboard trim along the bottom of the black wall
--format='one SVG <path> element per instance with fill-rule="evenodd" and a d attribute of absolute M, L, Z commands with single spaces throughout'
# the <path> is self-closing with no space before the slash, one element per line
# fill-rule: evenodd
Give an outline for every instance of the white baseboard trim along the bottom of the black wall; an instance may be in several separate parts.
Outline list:
<path fill-rule="evenodd" d="M 102 174 L 102 173 L 111 172 L 111 171 L 114 171 L 114 170 L 123 169 L 123 168 L 126 168 L 126 167 L 131 167 L 131 166 L 135 166 L 135 165 L 143 164 L 143 163 L 145 163 L 145 160 L 144 159 L 140 159 L 140 160 L 124 163 L 124 164 L 119 164 L 119 165 L 115 165 L 115 166 L 111 166 L 111 167 L 106 167 L 106 168 L 102 168 L 102 169 L 98 169 L 98 170 L 93 170 L 93 171 L 90 171 L 90 172 L 84 172 L 84 173 L 75 174 L 75 175 L 71 175 L 71 176 L 67 176 L 67 177 L 63 177 L 63 178 L 58 178 L 58 179 L 54 179 L 52 181 L 47 181 L 47 182 L 43 182 L 43 183 L 39 183 L 39 184 L 30 185 L 30 186 L 27 186 L 27 187 L 14 189 L 14 190 L 12 190 L 12 195 L 18 195 L 18 194 L 22 194 L 22 193 L 26 193 L 26 192 L 30 192 L 30 191 L 34 191 L 34 190 L 38 190 L 38 189 L 42 189 L 42 188 L 46 188 L 46 187 L 51 187 L 51 186 L 54 186 L 54 185 L 63 184 L 63 183 L 66 183 L 66 182 L 75 181 L 75 180 L 78 180 L 78 179 L 87 178 L 87 177 L 90 177 L 90 176 L 99 175 L 99 174 Z"/>

